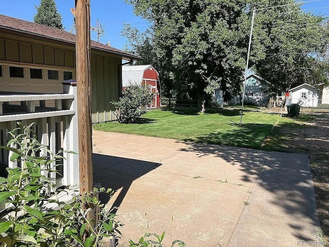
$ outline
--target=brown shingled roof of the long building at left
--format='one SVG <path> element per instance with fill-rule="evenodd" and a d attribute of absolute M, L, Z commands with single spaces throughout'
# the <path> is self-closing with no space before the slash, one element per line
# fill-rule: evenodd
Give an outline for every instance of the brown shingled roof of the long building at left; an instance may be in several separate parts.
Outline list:
<path fill-rule="evenodd" d="M 28 34 L 29 36 L 43 38 L 45 40 L 60 41 L 66 44 L 75 44 L 75 34 L 64 30 L 43 26 L 40 24 L 23 21 L 10 16 L 0 14 L 0 31 L 7 30 L 15 33 Z M 123 59 L 140 59 L 139 56 L 132 55 L 126 51 L 91 41 L 93 50 L 121 56 Z"/>

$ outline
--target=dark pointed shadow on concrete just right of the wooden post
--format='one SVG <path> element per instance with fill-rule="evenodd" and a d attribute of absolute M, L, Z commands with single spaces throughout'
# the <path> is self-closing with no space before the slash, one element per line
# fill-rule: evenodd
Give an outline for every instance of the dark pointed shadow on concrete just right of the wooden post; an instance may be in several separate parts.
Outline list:
<path fill-rule="evenodd" d="M 134 180 L 159 167 L 161 164 L 132 160 L 110 155 L 93 153 L 94 182 L 102 187 L 121 190 L 113 207 L 119 207 Z M 109 195 L 101 193 L 99 199 L 102 203 L 109 201 Z M 114 209 L 116 213 L 117 209 Z"/>

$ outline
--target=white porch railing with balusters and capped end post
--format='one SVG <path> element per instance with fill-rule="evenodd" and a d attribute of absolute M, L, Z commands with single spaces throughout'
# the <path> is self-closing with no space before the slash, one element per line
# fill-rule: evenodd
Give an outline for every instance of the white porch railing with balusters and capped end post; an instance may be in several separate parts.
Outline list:
<path fill-rule="evenodd" d="M 23 125 L 34 122 L 33 130 L 39 142 L 48 146 L 52 153 L 59 150 L 78 153 L 78 114 L 76 82 L 63 83 L 63 94 L 19 94 L 0 92 L 0 145 L 6 146 L 10 139 L 8 131 L 16 128 L 16 122 Z M 45 102 L 53 101 L 54 108 Z M 21 105 L 17 105 L 21 102 Z M 1 170 L 17 167 L 10 161 L 10 151 L 0 150 Z M 46 155 L 42 153 L 41 155 Z M 47 177 L 56 179 L 57 186 L 79 186 L 79 157 L 64 152 L 64 159 L 53 164 L 60 174 L 49 172 Z M 60 165 L 63 164 L 63 165 Z"/>

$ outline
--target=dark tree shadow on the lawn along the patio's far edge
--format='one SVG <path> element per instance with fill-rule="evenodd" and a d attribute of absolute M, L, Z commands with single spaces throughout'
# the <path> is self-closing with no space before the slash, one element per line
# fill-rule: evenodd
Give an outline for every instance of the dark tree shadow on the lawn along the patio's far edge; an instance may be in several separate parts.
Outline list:
<path fill-rule="evenodd" d="M 233 125 L 234 123 L 232 123 Z M 272 125 L 259 123 L 245 123 L 239 129 L 224 133 L 212 132 L 196 138 L 184 139 L 186 142 L 227 145 L 262 149 L 262 143 L 271 132 Z"/>

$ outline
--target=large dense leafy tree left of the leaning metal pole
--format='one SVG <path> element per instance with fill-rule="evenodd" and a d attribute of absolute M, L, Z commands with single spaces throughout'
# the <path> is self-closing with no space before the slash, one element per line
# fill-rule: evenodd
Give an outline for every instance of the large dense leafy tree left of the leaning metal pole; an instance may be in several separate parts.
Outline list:
<path fill-rule="evenodd" d="M 159 66 L 177 97 L 203 100 L 205 90 L 219 85 L 237 89 L 245 64 L 245 1 L 128 2 L 153 23 Z"/>

